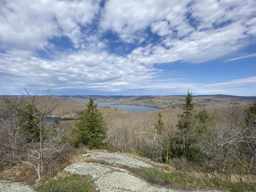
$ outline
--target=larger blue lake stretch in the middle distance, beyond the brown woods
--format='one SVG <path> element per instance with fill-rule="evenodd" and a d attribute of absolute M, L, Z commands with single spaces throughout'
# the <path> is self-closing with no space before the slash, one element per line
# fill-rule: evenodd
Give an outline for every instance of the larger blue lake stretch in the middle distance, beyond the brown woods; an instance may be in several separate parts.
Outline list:
<path fill-rule="evenodd" d="M 127 113 L 138 113 L 138 112 L 150 112 L 156 110 L 162 110 L 162 108 L 148 107 L 140 105 L 115 105 L 115 102 L 98 103 L 98 106 L 107 106 L 112 108 L 120 108 L 125 110 Z"/>

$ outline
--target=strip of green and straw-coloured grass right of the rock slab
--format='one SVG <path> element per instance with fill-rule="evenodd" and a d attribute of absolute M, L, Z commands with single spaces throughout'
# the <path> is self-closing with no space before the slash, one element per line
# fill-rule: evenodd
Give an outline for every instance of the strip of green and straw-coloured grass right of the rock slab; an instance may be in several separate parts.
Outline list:
<path fill-rule="evenodd" d="M 146 179 L 153 183 L 167 184 L 170 187 L 179 187 L 186 189 L 194 188 L 218 188 L 230 192 L 248 192 L 256 191 L 256 181 L 248 179 L 234 180 L 232 177 L 218 175 L 214 173 L 202 172 L 181 172 L 181 171 L 163 171 L 157 168 L 140 168 Z"/>

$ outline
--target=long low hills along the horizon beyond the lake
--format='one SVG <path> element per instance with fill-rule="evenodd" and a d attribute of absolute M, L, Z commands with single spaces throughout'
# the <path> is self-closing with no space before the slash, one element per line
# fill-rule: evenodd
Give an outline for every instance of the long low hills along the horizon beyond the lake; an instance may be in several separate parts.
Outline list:
<path fill-rule="evenodd" d="M 119 105 L 141 105 L 160 108 L 182 108 L 186 95 L 57 95 L 62 100 L 76 100 L 87 102 L 89 97 L 96 102 L 116 102 Z M 193 95 L 195 107 L 222 107 L 231 104 L 248 105 L 256 101 L 256 96 L 233 95 Z"/>

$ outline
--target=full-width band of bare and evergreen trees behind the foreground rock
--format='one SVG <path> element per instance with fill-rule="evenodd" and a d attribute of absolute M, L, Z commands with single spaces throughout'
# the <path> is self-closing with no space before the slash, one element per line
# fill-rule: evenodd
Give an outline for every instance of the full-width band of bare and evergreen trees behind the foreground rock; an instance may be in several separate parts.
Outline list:
<path fill-rule="evenodd" d="M 182 109 L 102 115 L 92 98 L 78 113 L 72 126 L 45 117 L 60 106 L 49 95 L 36 100 L 38 92 L 26 88 L 21 96 L 7 92 L 0 100 L 5 108 L 0 129 L 0 169 L 19 163 L 31 166 L 37 180 L 52 177 L 80 148 L 107 149 L 144 156 L 159 163 L 183 161 L 204 172 L 256 173 L 256 102 L 247 108 L 232 105 L 230 110 L 196 110 L 187 93 Z M 67 109 L 68 110 L 68 109 Z"/>

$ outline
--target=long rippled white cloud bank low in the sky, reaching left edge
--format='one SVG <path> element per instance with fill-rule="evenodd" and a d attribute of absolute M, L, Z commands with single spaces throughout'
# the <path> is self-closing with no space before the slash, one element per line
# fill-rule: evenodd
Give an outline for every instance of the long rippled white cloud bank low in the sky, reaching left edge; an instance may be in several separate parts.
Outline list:
<path fill-rule="evenodd" d="M 150 79 L 157 71 L 155 68 L 147 68 L 107 52 L 84 53 L 81 50 L 78 53 L 61 55 L 55 61 L 36 57 L 24 59 L 12 53 L 0 53 L 0 56 L 0 66 L 3 66 L 0 69 L 2 78 L 12 79 L 28 87 L 36 84 L 44 89 L 49 86 L 54 89 L 90 88 L 95 85 L 101 87 L 106 84 L 111 86 L 120 82 L 122 85 L 131 84 Z M 20 84 L 16 88 L 19 86 Z"/>

